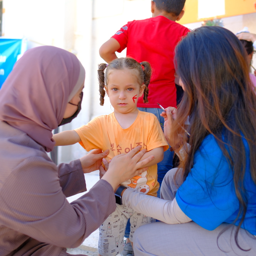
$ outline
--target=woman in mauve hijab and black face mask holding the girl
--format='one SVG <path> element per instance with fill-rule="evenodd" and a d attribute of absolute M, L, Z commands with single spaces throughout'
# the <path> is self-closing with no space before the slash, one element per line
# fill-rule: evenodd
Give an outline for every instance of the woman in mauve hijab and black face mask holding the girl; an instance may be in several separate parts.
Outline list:
<path fill-rule="evenodd" d="M 75 55 L 53 46 L 25 52 L 0 90 L 0 255 L 67 255 L 115 210 L 114 191 L 138 175 L 145 153 L 112 160 L 85 195 L 84 173 L 99 169 L 108 152 L 95 150 L 56 166 L 52 130 L 81 109 L 85 70 Z M 136 155 L 135 155 L 136 154 Z M 113 178 L 115 177 L 115 178 Z"/>

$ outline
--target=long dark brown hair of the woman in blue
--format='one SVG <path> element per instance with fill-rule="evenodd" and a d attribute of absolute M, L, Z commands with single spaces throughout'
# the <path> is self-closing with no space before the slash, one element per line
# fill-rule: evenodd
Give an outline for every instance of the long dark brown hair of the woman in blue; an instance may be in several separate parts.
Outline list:
<path fill-rule="evenodd" d="M 187 142 L 181 126 L 186 125 L 189 117 L 190 148 L 180 163 L 183 180 L 193 167 L 195 153 L 205 137 L 211 134 L 216 138 L 234 174 L 240 203 L 235 222 L 241 218 L 235 241 L 241 250 L 244 249 L 238 244 L 238 232 L 247 210 L 244 175 L 248 161 L 243 137 L 249 145 L 250 173 L 256 183 L 256 96 L 250 84 L 246 55 L 237 37 L 222 27 L 197 28 L 181 40 L 175 49 L 175 66 L 185 90 L 172 130 L 172 138 L 180 133 L 184 143 Z"/>

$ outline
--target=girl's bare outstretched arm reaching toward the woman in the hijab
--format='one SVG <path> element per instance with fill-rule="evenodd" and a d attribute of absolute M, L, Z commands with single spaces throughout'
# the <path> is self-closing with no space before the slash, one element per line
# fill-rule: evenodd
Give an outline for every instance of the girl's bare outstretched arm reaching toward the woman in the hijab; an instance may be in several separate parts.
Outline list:
<path fill-rule="evenodd" d="M 81 141 L 79 135 L 75 132 L 75 130 L 69 130 L 54 134 L 52 138 L 56 142 L 55 146 L 73 145 Z"/>

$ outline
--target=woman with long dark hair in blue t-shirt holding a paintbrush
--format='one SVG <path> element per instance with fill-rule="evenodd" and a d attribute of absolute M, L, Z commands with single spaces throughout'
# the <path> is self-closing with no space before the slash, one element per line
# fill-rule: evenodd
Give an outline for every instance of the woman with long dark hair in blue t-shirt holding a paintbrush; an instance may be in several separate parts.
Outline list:
<path fill-rule="evenodd" d="M 162 115 L 181 162 L 165 176 L 165 200 L 123 192 L 125 205 L 162 221 L 135 232 L 135 255 L 255 255 L 256 96 L 245 49 L 225 28 L 201 27 L 175 56 L 184 96 Z"/>

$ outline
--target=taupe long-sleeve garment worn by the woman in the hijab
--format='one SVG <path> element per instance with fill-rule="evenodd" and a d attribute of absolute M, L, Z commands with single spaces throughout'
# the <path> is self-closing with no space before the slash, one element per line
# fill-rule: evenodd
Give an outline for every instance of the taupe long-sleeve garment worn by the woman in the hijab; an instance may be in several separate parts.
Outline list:
<path fill-rule="evenodd" d="M 0 255 L 67 255 L 115 210 L 111 185 L 86 191 L 80 160 L 58 167 L 26 133 L 0 121 Z"/>

